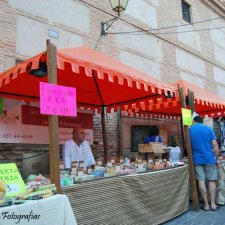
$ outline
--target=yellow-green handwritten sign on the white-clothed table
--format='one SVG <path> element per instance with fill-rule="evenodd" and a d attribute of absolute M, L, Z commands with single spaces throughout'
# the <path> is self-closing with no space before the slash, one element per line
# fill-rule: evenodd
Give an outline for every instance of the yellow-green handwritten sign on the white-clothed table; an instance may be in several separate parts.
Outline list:
<path fill-rule="evenodd" d="M 0 180 L 7 186 L 6 197 L 26 191 L 26 186 L 15 163 L 0 164 Z"/>

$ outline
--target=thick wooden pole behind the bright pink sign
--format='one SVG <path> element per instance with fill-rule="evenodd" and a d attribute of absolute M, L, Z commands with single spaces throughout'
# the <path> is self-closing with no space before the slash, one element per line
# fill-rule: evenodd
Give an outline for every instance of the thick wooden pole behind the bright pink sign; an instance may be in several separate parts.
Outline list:
<path fill-rule="evenodd" d="M 47 40 L 47 67 L 48 67 L 48 82 L 57 84 L 57 61 L 56 61 L 56 46 Z M 60 189 L 59 175 L 59 142 L 58 142 L 58 116 L 48 116 L 49 122 L 49 152 L 50 152 L 50 179 Z"/>

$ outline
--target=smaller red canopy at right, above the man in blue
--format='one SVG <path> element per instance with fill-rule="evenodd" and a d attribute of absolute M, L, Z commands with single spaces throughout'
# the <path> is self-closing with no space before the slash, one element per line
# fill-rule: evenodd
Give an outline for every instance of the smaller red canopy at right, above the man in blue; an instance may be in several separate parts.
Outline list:
<path fill-rule="evenodd" d="M 218 117 L 225 115 L 225 99 L 218 95 L 184 80 L 176 81 L 172 85 L 183 88 L 186 96 L 188 91 L 194 92 L 195 111 L 201 116 Z"/>

